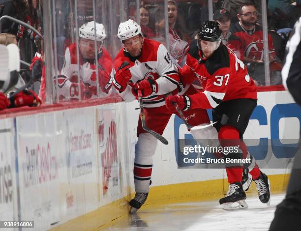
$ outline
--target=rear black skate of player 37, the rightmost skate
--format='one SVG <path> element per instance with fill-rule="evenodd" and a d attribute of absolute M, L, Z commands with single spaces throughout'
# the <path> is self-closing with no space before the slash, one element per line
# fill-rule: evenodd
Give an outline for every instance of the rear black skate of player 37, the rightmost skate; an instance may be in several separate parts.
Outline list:
<path fill-rule="evenodd" d="M 270 205 L 270 180 L 265 173 L 260 171 L 260 176 L 254 180 L 256 183 L 256 188 L 258 190 L 259 200 L 263 203 Z"/>

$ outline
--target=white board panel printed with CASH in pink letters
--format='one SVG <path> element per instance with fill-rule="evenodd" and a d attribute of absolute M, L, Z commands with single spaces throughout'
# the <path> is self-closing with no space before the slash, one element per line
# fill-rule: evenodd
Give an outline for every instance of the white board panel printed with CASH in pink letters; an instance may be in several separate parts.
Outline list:
<path fill-rule="evenodd" d="M 21 220 L 35 230 L 59 221 L 59 163 L 53 113 L 16 118 Z"/>

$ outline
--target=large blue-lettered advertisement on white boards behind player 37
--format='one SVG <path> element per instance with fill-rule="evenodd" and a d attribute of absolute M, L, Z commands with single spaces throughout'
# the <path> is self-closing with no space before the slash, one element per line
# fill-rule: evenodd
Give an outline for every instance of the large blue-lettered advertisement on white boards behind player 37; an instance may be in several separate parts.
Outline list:
<path fill-rule="evenodd" d="M 211 110 L 208 114 L 212 121 Z M 186 129 L 183 121 L 174 119 L 175 154 L 177 163 L 183 152 L 178 140 L 184 139 L 185 146 L 195 146 L 196 141 Z M 258 92 L 258 102 L 253 111 L 243 139 L 252 156 L 265 168 L 286 168 L 298 150 L 301 127 L 301 108 L 294 102 L 288 91 Z M 206 138 L 204 138 L 206 139 Z M 250 142 L 253 140 L 253 142 Z M 256 144 L 254 144 L 254 142 Z M 192 153 L 197 155 L 197 153 Z M 178 163 L 179 164 L 179 163 Z M 183 166 L 182 164 L 180 164 Z M 186 167 L 195 163 L 187 163 Z"/>

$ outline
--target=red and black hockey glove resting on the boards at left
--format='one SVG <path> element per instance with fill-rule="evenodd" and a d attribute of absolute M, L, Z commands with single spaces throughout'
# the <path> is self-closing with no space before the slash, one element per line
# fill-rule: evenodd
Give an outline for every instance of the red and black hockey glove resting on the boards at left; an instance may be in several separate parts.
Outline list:
<path fill-rule="evenodd" d="M 23 90 L 10 99 L 11 108 L 19 108 L 23 106 L 39 106 L 41 100 L 32 90 Z"/>

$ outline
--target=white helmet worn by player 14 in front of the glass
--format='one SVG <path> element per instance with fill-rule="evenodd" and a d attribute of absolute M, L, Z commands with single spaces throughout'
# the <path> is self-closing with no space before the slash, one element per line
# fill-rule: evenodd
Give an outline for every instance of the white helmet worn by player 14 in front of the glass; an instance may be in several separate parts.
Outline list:
<path fill-rule="evenodd" d="M 141 27 L 138 23 L 133 21 L 132 19 L 129 19 L 123 23 L 120 23 L 118 27 L 118 38 L 120 39 L 120 42 L 122 42 L 125 39 L 134 37 L 138 34 L 143 35 L 141 31 Z"/>

